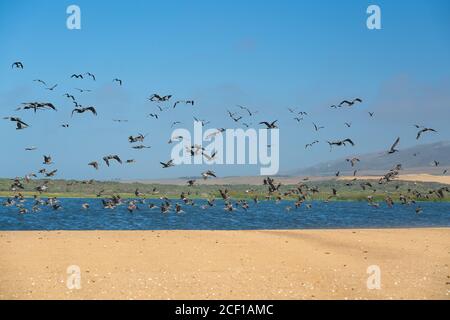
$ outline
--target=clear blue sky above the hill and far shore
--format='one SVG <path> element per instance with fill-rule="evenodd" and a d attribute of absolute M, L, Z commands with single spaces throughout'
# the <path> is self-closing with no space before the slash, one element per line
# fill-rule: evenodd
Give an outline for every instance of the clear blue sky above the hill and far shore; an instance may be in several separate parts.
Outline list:
<path fill-rule="evenodd" d="M 82 29 L 66 28 L 66 8 L 81 8 Z M 366 28 L 366 8 L 377 4 L 382 30 Z M 23 176 L 51 154 L 60 178 L 151 179 L 198 175 L 205 167 L 163 170 L 170 158 L 172 121 L 192 128 L 192 116 L 213 128 L 233 128 L 227 109 L 258 110 L 251 120 L 279 120 L 281 171 L 386 149 L 397 136 L 415 145 L 420 123 L 439 130 L 422 143 L 450 134 L 450 3 L 448 1 L 2 1 L 0 2 L 1 117 L 17 115 L 32 127 L 0 122 L 0 176 Z M 23 71 L 11 63 L 22 61 Z M 96 82 L 70 79 L 90 71 Z M 122 87 L 112 83 L 118 77 Z M 54 92 L 33 82 L 58 83 Z M 74 88 L 92 89 L 77 94 Z M 70 118 L 76 94 L 98 117 Z M 195 99 L 194 108 L 162 113 L 152 93 Z M 342 99 L 362 97 L 349 110 Z M 14 111 L 22 102 L 51 101 L 59 111 Z M 309 113 L 298 124 L 287 111 Z M 375 112 L 369 119 L 367 111 Z M 128 119 L 117 124 L 115 118 Z M 312 122 L 326 128 L 319 133 Z M 352 128 L 344 122 L 353 123 Z M 70 123 L 69 129 L 60 127 Z M 132 150 L 127 137 L 148 133 L 149 150 Z M 324 140 L 351 137 L 354 148 L 332 153 Z M 320 140 L 312 150 L 304 145 Z M 38 151 L 25 152 L 26 146 Z M 86 163 L 117 153 L 134 165 L 94 172 Z M 217 166 L 219 175 L 255 175 L 258 166 Z"/>

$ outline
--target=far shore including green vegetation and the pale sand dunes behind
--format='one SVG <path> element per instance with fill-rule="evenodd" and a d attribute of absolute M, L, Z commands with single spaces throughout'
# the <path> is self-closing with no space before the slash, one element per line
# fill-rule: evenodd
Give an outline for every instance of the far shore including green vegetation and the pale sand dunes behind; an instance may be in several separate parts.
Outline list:
<path fill-rule="evenodd" d="M 370 195 L 373 201 L 384 201 L 386 195 L 398 201 L 401 196 L 411 197 L 416 201 L 449 202 L 450 194 L 448 185 L 450 176 L 430 176 L 426 174 L 401 175 L 392 180 L 391 184 L 375 183 L 376 176 L 340 176 L 340 177 L 275 177 L 276 182 L 281 184 L 278 190 L 284 200 L 295 200 L 298 198 L 296 190 L 307 189 L 308 186 L 315 187 L 317 192 L 310 193 L 308 200 L 319 201 L 367 201 Z M 431 177 L 431 178 L 430 178 Z M 179 199 L 182 193 L 189 193 L 191 199 L 218 198 L 221 195 L 219 189 L 228 189 L 229 195 L 235 200 L 252 200 L 258 197 L 263 200 L 267 196 L 267 188 L 262 185 L 263 177 L 245 178 L 216 178 L 198 180 L 194 186 L 187 186 L 186 181 L 162 180 L 141 182 L 117 182 L 117 181 L 76 181 L 76 180 L 49 180 L 46 192 L 38 193 L 36 188 L 46 180 L 31 180 L 23 190 L 10 190 L 11 181 L 0 179 L 0 197 L 14 197 L 21 194 L 26 198 L 56 197 L 56 198 L 80 198 L 80 199 L 105 199 L 112 195 L 119 195 L 123 199 L 159 199 L 164 196 L 169 199 Z M 438 179 L 438 181 L 431 181 Z M 364 183 L 363 183 L 364 182 Z M 169 184 L 170 183 L 170 184 Z M 136 191 L 140 197 L 136 197 Z M 417 191 L 421 196 L 411 194 Z M 436 193 L 441 190 L 442 196 Z M 294 191 L 294 192 L 293 192 Z M 442 192 L 443 191 L 443 192 Z M 98 197 L 98 195 L 100 195 Z M 275 195 L 272 195 L 275 197 Z M 273 199 L 272 197 L 272 199 Z"/>

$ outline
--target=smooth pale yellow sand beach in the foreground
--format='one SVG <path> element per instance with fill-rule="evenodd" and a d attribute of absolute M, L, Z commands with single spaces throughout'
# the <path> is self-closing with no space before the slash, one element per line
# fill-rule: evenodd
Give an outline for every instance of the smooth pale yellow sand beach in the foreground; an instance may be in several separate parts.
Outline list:
<path fill-rule="evenodd" d="M 0 232 L 0 298 L 449 299 L 449 264 L 448 228 Z"/>

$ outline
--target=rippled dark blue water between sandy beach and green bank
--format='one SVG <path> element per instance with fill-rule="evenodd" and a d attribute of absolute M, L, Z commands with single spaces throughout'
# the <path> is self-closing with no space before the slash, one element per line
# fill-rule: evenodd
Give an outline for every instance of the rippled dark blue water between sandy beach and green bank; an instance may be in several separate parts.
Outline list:
<path fill-rule="evenodd" d="M 0 199 L 3 203 L 5 199 Z M 159 200 L 147 203 L 159 205 Z M 30 209 L 32 200 L 25 203 Z M 203 210 L 204 201 L 196 206 L 183 206 L 185 213 L 162 214 L 159 208 L 150 210 L 139 205 L 140 210 L 129 213 L 126 205 L 115 210 L 105 210 L 98 199 L 60 199 L 62 209 L 41 207 L 37 213 L 19 214 L 16 207 L 0 206 L 0 230 L 238 230 L 238 229 L 324 229 L 324 228 L 401 228 L 450 226 L 450 203 L 425 202 L 389 209 L 384 203 L 372 208 L 366 202 L 310 202 L 311 209 L 301 207 L 290 212 L 286 206 L 293 202 L 282 201 L 251 203 L 250 209 L 227 212 L 223 202 Z M 82 210 L 81 204 L 91 208 Z M 175 204 L 175 201 L 172 202 Z M 416 206 L 423 209 L 415 213 Z M 30 210 L 31 212 L 31 210 Z"/>

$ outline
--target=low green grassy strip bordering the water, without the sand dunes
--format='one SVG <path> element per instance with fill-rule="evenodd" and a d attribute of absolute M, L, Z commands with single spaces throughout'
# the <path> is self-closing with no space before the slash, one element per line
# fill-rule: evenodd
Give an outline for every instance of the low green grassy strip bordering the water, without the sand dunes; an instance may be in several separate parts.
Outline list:
<path fill-rule="evenodd" d="M 363 190 L 361 185 L 370 182 L 372 187 L 366 186 Z M 219 189 L 228 189 L 233 199 L 252 199 L 257 196 L 264 199 L 267 195 L 267 187 L 261 185 L 195 185 L 192 187 L 180 185 L 162 185 L 162 184 L 145 184 L 145 183 L 121 183 L 112 181 L 93 181 L 92 183 L 74 181 L 74 180 L 49 180 L 48 192 L 39 194 L 36 187 L 42 185 L 43 180 L 32 180 L 24 183 L 24 189 L 20 193 L 25 197 L 38 195 L 40 197 L 58 197 L 58 198 L 106 198 L 111 195 L 120 195 L 122 198 L 136 198 L 135 190 L 138 189 L 144 195 L 142 197 L 149 199 L 157 199 L 162 196 L 177 199 L 182 192 L 189 193 L 189 198 L 205 199 L 220 198 Z M 301 182 L 304 184 L 302 189 L 307 187 L 317 188 L 319 192 L 310 193 L 310 200 L 330 200 L 330 201 L 366 201 L 367 196 L 372 196 L 375 201 L 382 201 L 387 195 L 394 200 L 398 200 L 400 195 L 406 195 L 408 192 L 415 190 L 423 195 L 417 198 L 417 201 L 450 201 L 450 194 L 444 193 L 444 198 L 438 198 L 433 190 L 445 187 L 439 183 L 416 183 L 395 181 L 389 184 L 378 184 L 374 181 L 354 181 L 352 185 L 348 185 L 348 181 L 320 181 L 320 182 Z M 0 179 L 0 196 L 12 197 L 17 192 L 11 191 L 12 180 Z M 283 199 L 296 199 L 295 196 L 283 196 L 289 190 L 296 189 L 299 185 L 283 185 L 280 187 L 280 194 Z M 307 187 L 306 187 L 307 186 Z M 337 190 L 337 195 L 332 195 L 332 190 Z M 98 194 L 101 196 L 98 197 Z M 429 195 L 429 198 L 425 198 Z"/>

